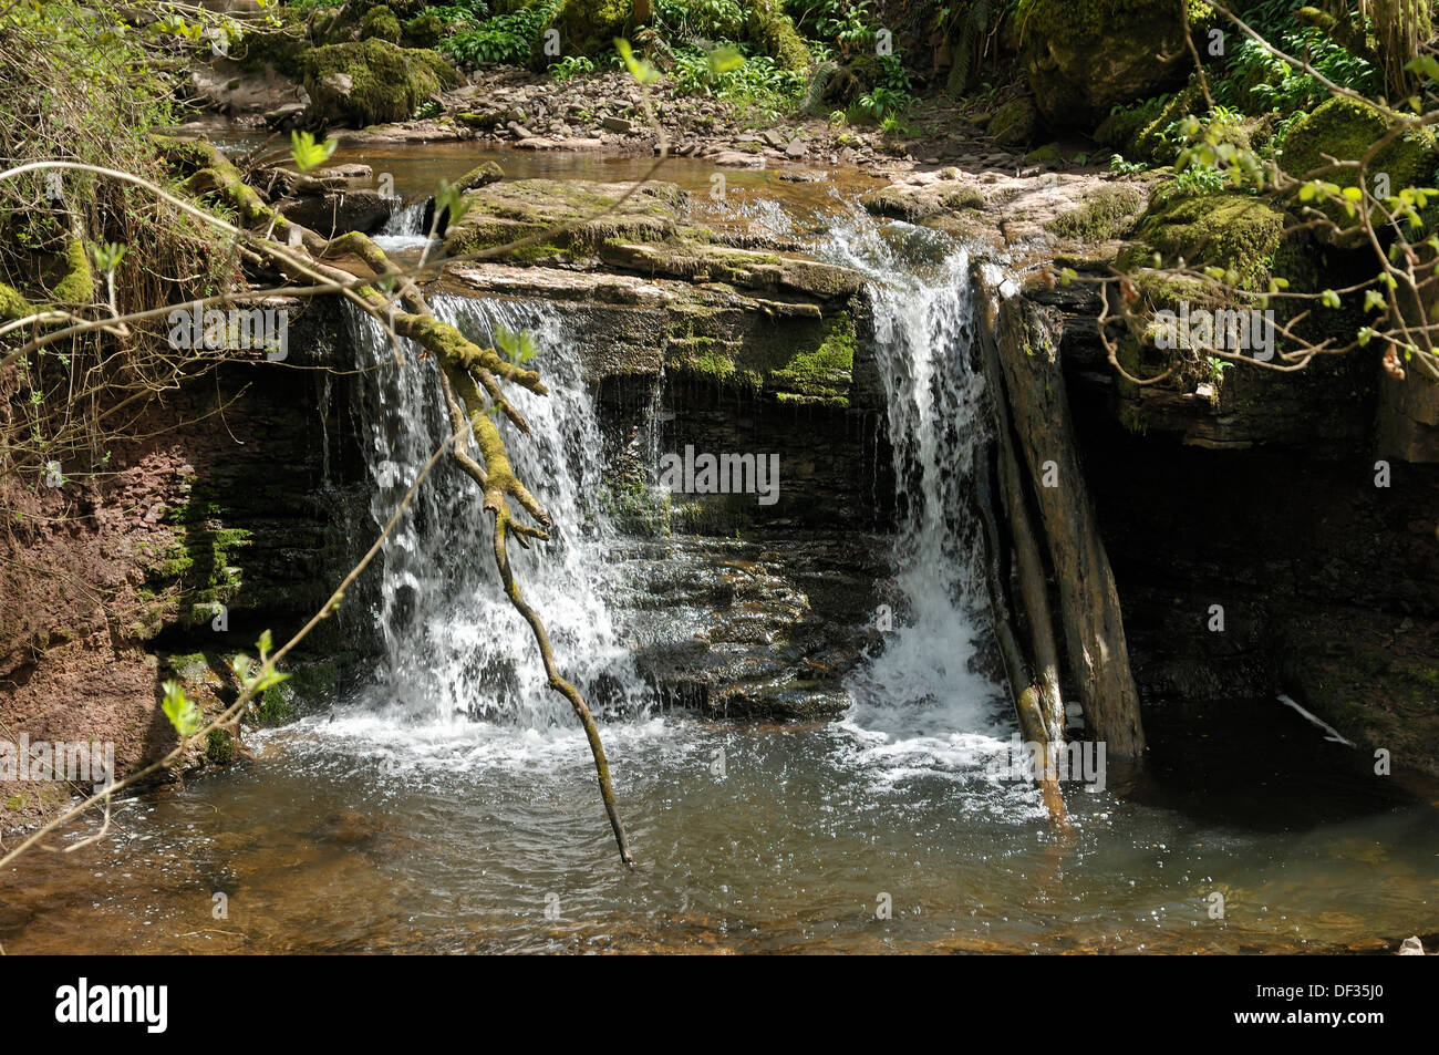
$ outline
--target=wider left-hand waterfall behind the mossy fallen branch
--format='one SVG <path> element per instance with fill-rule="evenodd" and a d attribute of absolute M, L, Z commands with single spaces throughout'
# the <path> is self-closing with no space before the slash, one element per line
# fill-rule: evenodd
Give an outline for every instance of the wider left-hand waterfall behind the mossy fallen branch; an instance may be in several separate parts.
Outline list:
<path fill-rule="evenodd" d="M 432 308 L 486 345 L 499 327 L 535 332 L 534 367 L 551 394 L 509 389 L 534 435 L 505 420 L 499 427 L 515 472 L 554 518 L 554 541 L 528 551 L 511 543 L 511 563 L 545 620 L 561 671 L 591 710 L 642 707 L 645 687 L 603 600 L 614 534 L 591 501 L 602 445 L 560 314 L 548 305 L 446 295 L 432 298 Z M 367 368 L 357 417 L 367 429 L 371 514 L 384 524 L 450 429 L 435 361 L 400 341 L 397 364 L 384 328 L 358 309 L 347 311 L 347 325 Z M 530 629 L 505 599 L 489 540 L 479 488 L 442 458 L 384 544 L 376 613 L 384 649 L 373 695 L 401 720 L 573 730 L 568 704 L 548 688 Z"/>

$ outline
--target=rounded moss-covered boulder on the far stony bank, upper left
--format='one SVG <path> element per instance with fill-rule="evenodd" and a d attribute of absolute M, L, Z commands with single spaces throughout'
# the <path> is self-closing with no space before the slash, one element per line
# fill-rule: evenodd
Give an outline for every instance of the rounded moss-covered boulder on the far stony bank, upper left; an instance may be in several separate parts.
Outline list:
<path fill-rule="evenodd" d="M 380 39 L 317 47 L 304 68 L 317 117 L 360 128 L 403 121 L 459 79 L 435 52 Z"/>

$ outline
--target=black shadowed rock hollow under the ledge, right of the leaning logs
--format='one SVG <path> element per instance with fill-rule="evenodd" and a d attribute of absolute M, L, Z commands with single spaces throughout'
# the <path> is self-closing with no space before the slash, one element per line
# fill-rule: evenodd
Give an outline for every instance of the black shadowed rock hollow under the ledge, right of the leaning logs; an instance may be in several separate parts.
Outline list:
<path fill-rule="evenodd" d="M 1071 394 L 1145 710 L 1282 691 L 1439 774 L 1436 468 L 1376 486 L 1367 439 L 1213 450 Z"/>

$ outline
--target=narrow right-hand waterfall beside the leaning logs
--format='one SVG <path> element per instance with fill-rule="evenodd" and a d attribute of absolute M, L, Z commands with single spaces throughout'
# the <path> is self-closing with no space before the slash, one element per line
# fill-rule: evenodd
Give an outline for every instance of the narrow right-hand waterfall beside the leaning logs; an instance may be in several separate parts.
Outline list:
<path fill-rule="evenodd" d="M 868 219 L 835 230 L 823 252 L 871 276 L 899 521 L 894 629 L 850 678 L 846 724 L 891 761 L 964 767 L 1010 728 L 1003 691 L 973 669 L 990 632 L 967 494 L 989 423 L 968 354 L 968 253 L 934 232 Z"/>

